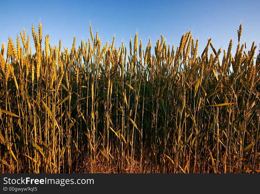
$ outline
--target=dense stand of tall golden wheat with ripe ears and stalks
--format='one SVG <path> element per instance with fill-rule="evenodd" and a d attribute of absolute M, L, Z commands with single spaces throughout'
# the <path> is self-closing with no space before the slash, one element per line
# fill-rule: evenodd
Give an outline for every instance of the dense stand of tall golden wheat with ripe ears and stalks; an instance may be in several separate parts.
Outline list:
<path fill-rule="evenodd" d="M 177 46 L 161 35 L 154 49 L 138 34 L 128 48 L 115 36 L 101 46 L 91 25 L 70 50 L 44 40 L 41 23 L 36 34 L 32 26 L 35 53 L 25 30 L 9 38 L 1 173 L 260 172 L 260 56 L 241 33 L 223 51 L 208 39 L 202 53 L 191 31 Z"/>

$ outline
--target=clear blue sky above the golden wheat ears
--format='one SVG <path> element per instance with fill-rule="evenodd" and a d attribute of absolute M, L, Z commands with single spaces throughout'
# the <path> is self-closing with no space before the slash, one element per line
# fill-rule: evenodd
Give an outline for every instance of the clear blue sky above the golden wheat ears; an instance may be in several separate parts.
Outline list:
<path fill-rule="evenodd" d="M 25 28 L 30 35 L 30 46 L 33 48 L 31 27 L 42 22 L 43 38 L 50 36 L 50 44 L 72 47 L 76 36 L 76 48 L 81 40 L 90 38 L 89 25 L 92 31 L 98 30 L 102 45 L 112 43 L 116 35 L 115 45 L 119 48 L 122 40 L 129 52 L 129 40 L 142 39 L 145 50 L 151 38 L 152 52 L 156 40 L 162 34 L 167 45 L 180 43 L 183 33 L 192 31 L 194 39 L 199 38 L 198 54 L 201 54 L 212 38 L 215 49 L 227 50 L 233 38 L 232 53 L 238 43 L 237 30 L 242 23 L 241 42 L 251 48 L 260 43 L 260 1 L 1 1 L 0 43 L 6 43 L 8 36 L 16 42 L 16 36 Z M 257 14 L 258 13 L 258 14 Z M 20 40 L 21 41 L 21 40 Z M 44 40 L 43 40 L 44 41 Z M 62 47 L 63 48 L 63 47 Z M 34 50 L 34 49 L 33 49 Z M 209 51 L 211 53 L 211 50 Z"/>

